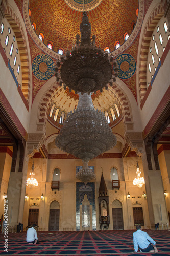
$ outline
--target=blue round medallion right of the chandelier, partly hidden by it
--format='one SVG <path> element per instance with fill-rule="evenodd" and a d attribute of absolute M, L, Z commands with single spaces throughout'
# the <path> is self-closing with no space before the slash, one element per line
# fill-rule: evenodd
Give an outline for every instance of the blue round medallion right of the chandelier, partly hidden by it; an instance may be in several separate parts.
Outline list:
<path fill-rule="evenodd" d="M 130 54 L 120 54 L 117 58 L 118 77 L 121 79 L 128 79 L 132 77 L 136 71 L 136 61 Z"/>

